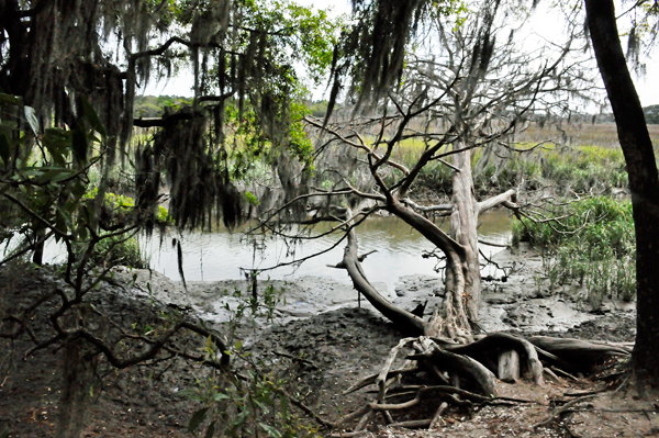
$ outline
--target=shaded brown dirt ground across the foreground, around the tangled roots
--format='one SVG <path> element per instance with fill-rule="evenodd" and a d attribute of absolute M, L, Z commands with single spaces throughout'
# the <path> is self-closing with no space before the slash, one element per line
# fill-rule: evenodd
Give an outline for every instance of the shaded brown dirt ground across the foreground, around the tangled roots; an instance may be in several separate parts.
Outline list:
<path fill-rule="evenodd" d="M 45 280 L 44 280 L 45 279 Z M 49 279 L 49 280 L 48 280 Z M 43 271 L 0 271 L 0 312 L 3 315 L 20 303 L 52 287 Z M 309 285 L 309 284 L 308 284 Z M 319 284 L 321 288 L 321 284 Z M 126 296 L 125 284 L 104 284 L 91 297 L 96 308 L 131 324 L 153 313 L 154 302 L 144 296 Z M 533 301 L 526 301 L 528 303 Z M 539 308 L 538 311 L 540 311 Z M 319 415 L 335 419 L 364 404 L 375 394 L 362 389 L 342 393 L 359 379 L 376 373 L 389 350 L 403 334 L 369 308 L 353 306 L 319 315 L 290 317 L 272 326 L 245 326 L 238 335 L 255 360 L 275 366 L 284 358 L 301 358 L 289 375 L 305 403 Z M 548 330 L 551 336 L 630 341 L 635 335 L 632 312 L 607 312 L 568 332 Z M 222 330 L 222 324 L 217 325 Z M 523 328 L 523 327 L 522 327 Z M 512 332 L 527 335 L 524 329 Z M 40 334 L 36 334 L 37 336 Z M 208 372 L 201 367 L 174 359 L 150 368 L 130 367 L 103 375 L 82 366 L 71 369 L 70 348 L 46 348 L 25 356 L 25 341 L 0 339 L 0 437 L 59 437 L 62 424 L 79 425 L 81 437 L 188 437 L 187 425 L 199 404 L 186 395 Z M 624 361 L 616 362 L 624 368 Z M 603 371 L 604 372 L 604 371 Z M 602 372 L 602 373 L 603 373 Z M 602 374 L 600 373 L 600 374 Z M 76 391 L 67 391 L 67 379 L 81 375 Z M 614 395 L 602 395 L 579 404 L 546 427 L 555 406 L 605 388 L 616 388 L 619 379 L 546 378 L 544 386 L 529 382 L 500 383 L 500 395 L 533 403 L 510 406 L 476 406 L 471 412 L 450 408 L 434 430 L 383 427 L 371 418 L 364 437 L 639 437 L 659 436 L 659 402 L 640 397 L 632 385 Z M 566 395 L 567 394 L 567 395 Z M 72 402 L 72 403 L 71 403 Z M 396 414 L 395 420 L 415 419 L 436 409 L 434 401 Z M 63 406 L 74 406 L 65 409 Z M 72 422 L 63 422 L 67 416 Z M 354 426 L 354 425 L 353 425 Z M 72 426 L 69 426 L 72 427 Z M 7 435 L 2 435 L 2 431 Z M 326 431 L 330 436 L 336 431 Z"/>

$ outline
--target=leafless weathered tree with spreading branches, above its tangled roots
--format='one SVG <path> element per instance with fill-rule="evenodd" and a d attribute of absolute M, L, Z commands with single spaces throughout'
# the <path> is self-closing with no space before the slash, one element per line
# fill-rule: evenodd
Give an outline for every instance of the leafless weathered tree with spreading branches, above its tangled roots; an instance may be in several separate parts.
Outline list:
<path fill-rule="evenodd" d="M 445 19 L 428 23 L 426 45 L 420 42 L 416 53 L 407 56 L 401 86 L 369 106 L 375 115 L 348 114 L 347 120 L 325 122 L 306 119 L 319 132 L 326 132 L 316 168 L 321 179 L 334 186 L 311 191 L 299 201 L 312 212 L 311 221 L 344 221 L 350 232 L 340 267 L 348 269 L 356 289 L 376 308 L 416 335 L 471 339 L 470 322 L 478 322 L 481 303 L 478 216 L 499 205 L 517 209 L 515 188 L 477 200 L 474 150 L 484 150 L 478 171 L 491 155 L 517 150 L 514 134 L 527 126 L 535 112 L 562 109 L 570 97 L 587 96 L 584 68 L 572 56 L 581 49 L 572 47 L 574 35 L 558 49 L 528 53 L 515 31 L 502 25 L 502 16 L 499 4 L 485 2 L 460 26 Z M 412 164 L 396 162 L 396 150 L 412 142 L 423 145 Z M 338 156 L 353 156 L 354 166 L 336 165 Z M 451 199 L 420 205 L 410 194 L 423 169 L 434 162 L 453 171 Z M 314 196 L 325 200 L 310 203 Z M 349 209 L 340 206 L 346 196 L 351 198 Z M 356 217 L 377 211 L 402 218 L 444 255 L 446 296 L 429 322 L 388 303 L 359 269 L 353 227 Z M 450 216 L 448 234 L 432 221 L 437 215 Z"/>

